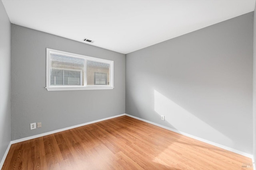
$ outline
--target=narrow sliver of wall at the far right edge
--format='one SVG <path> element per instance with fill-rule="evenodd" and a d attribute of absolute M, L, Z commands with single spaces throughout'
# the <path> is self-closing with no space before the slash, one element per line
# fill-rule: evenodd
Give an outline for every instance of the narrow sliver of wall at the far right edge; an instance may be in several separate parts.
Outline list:
<path fill-rule="evenodd" d="M 254 27 L 253 27 L 253 156 L 256 164 L 256 4 L 254 8 Z"/>

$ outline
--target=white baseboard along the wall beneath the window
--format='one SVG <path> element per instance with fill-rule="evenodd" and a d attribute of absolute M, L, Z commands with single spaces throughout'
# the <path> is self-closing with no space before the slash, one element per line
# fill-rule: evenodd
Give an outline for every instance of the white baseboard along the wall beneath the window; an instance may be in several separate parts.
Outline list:
<path fill-rule="evenodd" d="M 108 120 L 108 119 L 113 119 L 113 118 L 115 118 L 115 117 L 120 117 L 120 116 L 124 116 L 124 115 L 125 115 L 125 114 L 120 114 L 120 115 L 116 115 L 116 116 L 112 116 L 112 117 L 107 117 L 107 118 L 104 118 L 104 119 L 99 119 L 99 120 L 90 121 L 90 122 L 87 122 L 87 123 L 82 123 L 82 124 L 80 124 L 80 125 L 74 125 L 74 126 L 70 126 L 70 127 L 65 127 L 65 128 L 63 128 L 63 129 L 58 129 L 58 130 L 55 130 L 55 131 L 50 131 L 50 132 L 46 132 L 46 133 L 41 133 L 41 134 L 34 135 L 34 136 L 30 136 L 30 137 L 24 137 L 24 138 L 22 138 L 22 139 L 17 139 L 17 140 L 15 140 L 15 141 L 11 141 L 11 144 L 19 143 L 19 142 L 23 142 L 23 141 L 27 141 L 27 140 L 30 140 L 30 139 L 35 139 L 35 138 L 38 138 L 38 137 L 43 137 L 43 136 L 46 136 L 46 135 L 51 135 L 51 134 L 54 134 L 54 133 L 66 131 L 66 130 L 69 130 L 69 129 L 74 129 L 74 128 L 76 128 L 76 127 L 81 127 L 81 126 L 89 125 L 89 124 L 96 123 L 96 122 L 99 122 L 99 121 L 104 121 L 104 120 Z"/>

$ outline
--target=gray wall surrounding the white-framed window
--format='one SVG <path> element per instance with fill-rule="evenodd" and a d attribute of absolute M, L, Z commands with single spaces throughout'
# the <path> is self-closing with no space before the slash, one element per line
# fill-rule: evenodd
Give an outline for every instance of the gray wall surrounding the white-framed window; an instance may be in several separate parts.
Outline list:
<path fill-rule="evenodd" d="M 46 48 L 114 61 L 115 88 L 47 91 Z M 12 24 L 11 99 L 12 140 L 125 113 L 125 55 Z"/>

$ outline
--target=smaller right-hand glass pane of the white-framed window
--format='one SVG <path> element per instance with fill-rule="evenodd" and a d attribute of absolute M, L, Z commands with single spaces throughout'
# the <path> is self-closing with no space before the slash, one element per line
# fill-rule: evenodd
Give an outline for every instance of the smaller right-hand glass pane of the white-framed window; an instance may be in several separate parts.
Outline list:
<path fill-rule="evenodd" d="M 87 61 L 87 85 L 109 85 L 110 64 Z"/>

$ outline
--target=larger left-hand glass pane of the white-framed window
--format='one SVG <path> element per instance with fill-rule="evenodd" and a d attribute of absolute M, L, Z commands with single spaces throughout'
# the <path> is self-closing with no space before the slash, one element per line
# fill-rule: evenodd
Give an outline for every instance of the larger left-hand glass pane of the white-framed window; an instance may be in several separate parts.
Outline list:
<path fill-rule="evenodd" d="M 84 59 L 50 54 L 50 85 L 84 86 Z"/>

